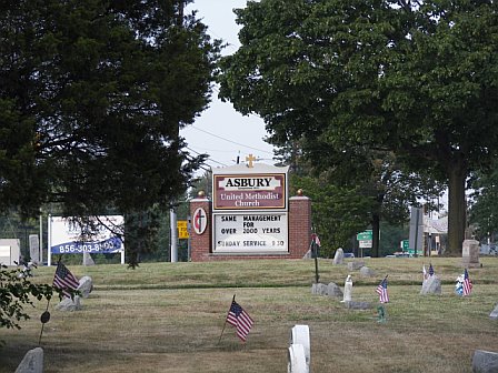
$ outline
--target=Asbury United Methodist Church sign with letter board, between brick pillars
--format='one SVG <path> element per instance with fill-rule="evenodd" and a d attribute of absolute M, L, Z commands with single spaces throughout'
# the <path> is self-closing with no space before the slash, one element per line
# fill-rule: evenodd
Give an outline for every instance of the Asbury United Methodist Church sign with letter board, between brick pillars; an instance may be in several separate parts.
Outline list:
<path fill-rule="evenodd" d="M 287 172 L 251 162 L 213 170 L 213 253 L 289 252 Z"/>

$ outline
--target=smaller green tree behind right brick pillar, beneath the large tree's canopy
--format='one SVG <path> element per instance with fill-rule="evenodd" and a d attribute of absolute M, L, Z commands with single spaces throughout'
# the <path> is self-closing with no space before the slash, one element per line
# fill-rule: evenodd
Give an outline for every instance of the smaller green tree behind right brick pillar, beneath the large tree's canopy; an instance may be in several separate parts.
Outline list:
<path fill-rule="evenodd" d="M 336 245 L 347 245 L 352 235 L 370 228 L 371 255 L 379 256 L 380 222 L 402 225 L 410 205 L 419 204 L 422 196 L 441 193 L 427 178 L 405 173 L 390 152 L 350 149 L 340 160 L 321 158 L 320 178 L 298 178 L 295 182 L 311 196 L 318 232 Z M 326 169 L 331 163 L 332 171 Z"/>

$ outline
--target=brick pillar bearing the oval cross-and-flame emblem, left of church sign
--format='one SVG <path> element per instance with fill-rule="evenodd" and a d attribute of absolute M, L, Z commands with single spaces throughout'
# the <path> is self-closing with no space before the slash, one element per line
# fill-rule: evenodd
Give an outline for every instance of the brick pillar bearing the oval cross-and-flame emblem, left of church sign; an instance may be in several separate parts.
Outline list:
<path fill-rule="evenodd" d="M 197 234 L 193 229 L 193 214 L 197 209 L 202 208 L 206 211 L 207 225 L 202 234 Z M 209 201 L 203 192 L 199 192 L 197 199 L 190 201 L 190 216 L 192 216 L 192 226 L 190 229 L 190 259 L 192 262 L 200 262 L 208 259 L 211 253 L 211 232 L 212 232 L 212 214 L 211 201 Z"/>

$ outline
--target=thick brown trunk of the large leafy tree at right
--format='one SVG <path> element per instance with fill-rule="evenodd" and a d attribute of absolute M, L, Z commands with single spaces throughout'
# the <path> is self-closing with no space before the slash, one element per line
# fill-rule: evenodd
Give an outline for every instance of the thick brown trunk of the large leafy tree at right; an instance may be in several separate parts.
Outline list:
<path fill-rule="evenodd" d="M 465 183 L 467 179 L 467 165 L 464 160 L 452 162 L 448 170 L 448 246 L 446 255 L 461 255 L 467 223 L 467 204 L 465 196 Z"/>

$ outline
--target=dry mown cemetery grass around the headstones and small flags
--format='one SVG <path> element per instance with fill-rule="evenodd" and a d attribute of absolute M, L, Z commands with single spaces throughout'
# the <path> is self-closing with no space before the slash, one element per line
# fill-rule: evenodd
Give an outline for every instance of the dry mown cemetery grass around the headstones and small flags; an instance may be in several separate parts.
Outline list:
<path fill-rule="evenodd" d="M 295 324 L 307 324 L 311 372 L 471 372 L 474 351 L 498 351 L 498 258 L 481 258 L 469 270 L 472 294 L 455 295 L 461 259 L 431 259 L 442 281 L 441 295 L 420 295 L 421 266 L 428 259 L 366 259 L 375 278 L 351 272 L 352 299 L 372 302 L 367 311 L 347 310 L 337 299 L 311 294 L 312 260 L 70 265 L 90 275 L 94 290 L 78 312 L 50 304 L 41 346 L 44 372 L 287 372 Z M 346 265 L 320 260 L 320 282 L 342 286 Z M 36 270 L 33 281 L 51 283 L 54 266 Z M 375 290 L 389 274 L 388 321 L 377 322 Z M 225 317 L 233 294 L 255 320 L 241 343 Z M 46 303 L 28 311 L 17 331 L 0 329 L 0 373 L 13 372 L 38 346 Z"/>

